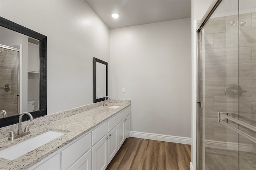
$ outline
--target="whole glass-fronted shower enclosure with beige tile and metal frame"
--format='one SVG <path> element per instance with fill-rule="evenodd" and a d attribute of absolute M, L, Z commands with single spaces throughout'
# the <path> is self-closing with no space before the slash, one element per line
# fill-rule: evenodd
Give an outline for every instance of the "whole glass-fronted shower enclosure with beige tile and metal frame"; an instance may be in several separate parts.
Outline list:
<path fill-rule="evenodd" d="M 256 170 L 256 0 L 198 21 L 198 170 Z"/>

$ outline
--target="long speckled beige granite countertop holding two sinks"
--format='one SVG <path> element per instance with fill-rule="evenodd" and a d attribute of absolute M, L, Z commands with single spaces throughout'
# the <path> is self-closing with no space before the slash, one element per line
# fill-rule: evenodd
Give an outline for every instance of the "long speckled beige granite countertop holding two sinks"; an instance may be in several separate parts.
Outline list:
<path fill-rule="evenodd" d="M 109 106 L 120 106 L 116 109 L 109 109 Z M 99 106 L 93 109 L 83 111 L 81 113 L 50 122 L 46 125 L 30 129 L 31 133 L 24 137 L 20 137 L 13 141 L 7 141 L 7 138 L 0 140 L 0 150 L 6 149 L 45 133 L 50 130 L 66 132 L 66 134 L 38 147 L 37 149 L 32 150 L 31 152 L 24 154 L 14 160 L 7 160 L 0 158 L 0 169 L 4 170 L 19 170 L 27 169 L 37 162 L 43 160 L 53 152 L 56 152 L 60 148 L 64 147 L 74 139 L 77 139 L 81 135 L 87 133 L 106 119 L 115 115 L 118 111 L 123 110 L 127 106 L 130 106 L 130 103 L 109 103 L 108 106 Z M 22 129 L 24 129 L 22 125 Z"/>

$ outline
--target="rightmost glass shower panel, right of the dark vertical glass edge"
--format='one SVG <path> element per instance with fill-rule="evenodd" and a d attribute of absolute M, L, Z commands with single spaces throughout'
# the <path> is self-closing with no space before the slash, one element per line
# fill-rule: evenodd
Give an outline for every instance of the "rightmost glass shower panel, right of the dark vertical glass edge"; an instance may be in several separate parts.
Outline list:
<path fill-rule="evenodd" d="M 239 0 L 239 96 L 242 123 L 256 127 L 256 1 Z M 239 125 L 239 130 L 256 138 L 256 132 Z M 256 143 L 239 135 L 239 169 L 256 170 Z"/>

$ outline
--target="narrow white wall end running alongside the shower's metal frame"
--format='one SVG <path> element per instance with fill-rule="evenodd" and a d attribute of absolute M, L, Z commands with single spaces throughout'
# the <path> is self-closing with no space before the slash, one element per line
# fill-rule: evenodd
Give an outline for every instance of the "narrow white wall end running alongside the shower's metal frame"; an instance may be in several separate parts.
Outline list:
<path fill-rule="evenodd" d="M 197 20 L 203 18 L 204 14 L 212 4 L 213 0 L 192 0 L 191 1 L 191 35 L 192 35 L 192 107 L 191 107 L 191 162 L 193 165 L 193 170 L 196 170 L 196 63 L 197 63 L 197 39 L 196 39 L 196 27 Z"/>

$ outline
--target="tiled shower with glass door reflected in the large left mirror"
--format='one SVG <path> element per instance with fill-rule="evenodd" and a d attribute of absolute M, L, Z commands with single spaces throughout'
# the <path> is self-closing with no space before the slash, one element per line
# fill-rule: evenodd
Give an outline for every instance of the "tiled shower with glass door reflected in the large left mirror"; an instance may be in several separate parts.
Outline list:
<path fill-rule="evenodd" d="M 19 113 L 18 98 L 19 52 L 12 47 L 0 45 L 0 118 Z"/>

